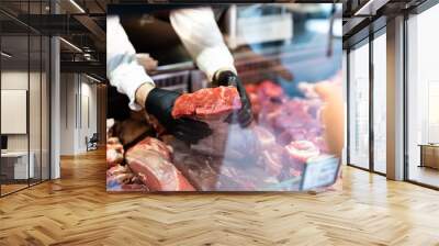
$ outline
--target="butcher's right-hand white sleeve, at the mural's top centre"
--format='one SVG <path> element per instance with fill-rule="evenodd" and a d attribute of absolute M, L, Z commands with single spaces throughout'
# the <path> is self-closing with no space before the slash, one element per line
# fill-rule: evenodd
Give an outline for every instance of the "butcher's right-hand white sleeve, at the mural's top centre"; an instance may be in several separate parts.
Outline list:
<path fill-rule="evenodd" d="M 224 43 L 211 8 L 171 11 L 170 21 L 184 47 L 209 81 L 219 69 L 236 72 L 234 58 Z"/>

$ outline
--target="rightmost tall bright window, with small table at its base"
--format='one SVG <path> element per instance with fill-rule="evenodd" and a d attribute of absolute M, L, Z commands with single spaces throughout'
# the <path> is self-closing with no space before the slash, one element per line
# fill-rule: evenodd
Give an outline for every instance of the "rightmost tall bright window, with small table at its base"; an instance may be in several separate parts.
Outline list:
<path fill-rule="evenodd" d="M 407 21 L 408 179 L 439 187 L 439 5 Z"/>

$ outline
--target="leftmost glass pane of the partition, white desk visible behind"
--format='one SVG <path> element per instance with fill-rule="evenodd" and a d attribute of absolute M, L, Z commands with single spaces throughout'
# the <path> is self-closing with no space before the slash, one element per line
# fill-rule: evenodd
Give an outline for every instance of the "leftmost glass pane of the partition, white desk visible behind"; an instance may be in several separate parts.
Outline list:
<path fill-rule="evenodd" d="M 34 166 L 29 158 L 29 36 L 2 36 L 1 171 L 2 194 L 29 186 Z"/>

